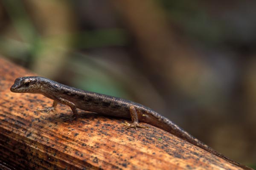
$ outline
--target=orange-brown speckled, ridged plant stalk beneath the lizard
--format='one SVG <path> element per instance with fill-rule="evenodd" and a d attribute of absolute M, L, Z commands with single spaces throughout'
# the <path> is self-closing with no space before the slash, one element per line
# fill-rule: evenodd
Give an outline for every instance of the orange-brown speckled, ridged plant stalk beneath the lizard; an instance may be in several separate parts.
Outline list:
<path fill-rule="evenodd" d="M 125 121 L 79 110 L 37 111 L 52 100 L 16 94 L 15 78 L 35 75 L 0 58 L 0 164 L 10 169 L 241 169 L 176 136 L 150 126 L 125 130 Z"/>

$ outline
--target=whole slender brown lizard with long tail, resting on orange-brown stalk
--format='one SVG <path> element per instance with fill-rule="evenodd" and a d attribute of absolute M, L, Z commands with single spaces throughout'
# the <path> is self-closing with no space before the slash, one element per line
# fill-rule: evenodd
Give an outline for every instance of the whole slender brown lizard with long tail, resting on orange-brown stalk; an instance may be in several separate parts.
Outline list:
<path fill-rule="evenodd" d="M 72 88 L 67 85 L 62 85 L 58 82 L 54 82 L 44 77 L 20 77 L 15 80 L 14 85 L 11 87 L 11 91 L 15 93 L 35 93 L 43 94 L 44 96 L 53 99 L 53 105 L 50 108 L 43 109 L 45 111 L 52 111 L 58 104 L 58 102 L 70 106 L 73 111 L 73 116 L 64 117 L 65 120 L 73 120 L 77 117 L 77 108 L 92 111 L 96 113 L 102 113 L 107 116 L 117 116 L 121 118 L 130 118 L 132 123 L 123 124 L 127 128 L 129 127 L 143 127 L 139 121 L 154 125 L 169 133 L 174 134 L 181 139 L 194 144 L 212 153 L 232 164 L 235 164 L 241 168 L 252 170 L 250 167 L 246 167 L 236 161 L 233 161 L 226 156 L 213 150 L 203 142 L 196 139 L 194 136 L 187 133 L 185 130 L 177 126 L 169 119 L 161 116 L 159 113 L 129 100 L 108 96 L 104 94 L 98 94 L 90 91 L 84 91 L 77 88 Z"/>

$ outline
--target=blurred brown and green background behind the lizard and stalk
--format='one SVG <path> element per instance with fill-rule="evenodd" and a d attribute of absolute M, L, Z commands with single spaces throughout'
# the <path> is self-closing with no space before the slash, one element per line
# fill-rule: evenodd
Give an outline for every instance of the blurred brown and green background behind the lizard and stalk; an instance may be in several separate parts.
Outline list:
<path fill-rule="evenodd" d="M 1 0 L 0 55 L 146 105 L 256 168 L 255 9 L 251 0 Z"/>

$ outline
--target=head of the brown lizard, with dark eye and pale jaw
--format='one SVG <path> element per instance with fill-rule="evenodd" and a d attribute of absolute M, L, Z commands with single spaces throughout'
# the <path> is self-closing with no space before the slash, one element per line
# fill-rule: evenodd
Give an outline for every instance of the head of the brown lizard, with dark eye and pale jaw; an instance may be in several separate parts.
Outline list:
<path fill-rule="evenodd" d="M 15 79 L 10 90 L 15 93 L 38 93 L 39 78 L 36 76 L 19 77 Z"/>

